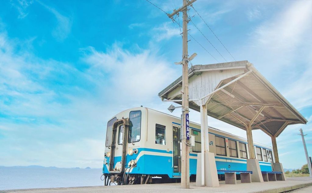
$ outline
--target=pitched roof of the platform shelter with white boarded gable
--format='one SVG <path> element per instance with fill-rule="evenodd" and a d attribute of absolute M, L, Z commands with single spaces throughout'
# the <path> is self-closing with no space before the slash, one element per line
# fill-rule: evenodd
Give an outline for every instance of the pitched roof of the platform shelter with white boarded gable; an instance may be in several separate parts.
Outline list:
<path fill-rule="evenodd" d="M 264 106 L 253 122 L 252 129 L 261 129 L 275 137 L 287 125 L 307 123 L 307 120 L 247 60 L 193 66 L 189 69 L 189 95 L 205 96 L 249 70 L 252 70 L 250 74 L 210 96 L 207 103 L 209 116 L 246 129 L 245 124 L 248 124 Z M 197 76 L 200 76 L 200 79 Z M 181 99 L 181 94 L 178 94 L 182 89 L 181 81 L 182 77 L 179 77 L 163 89 L 158 94 L 159 97 Z M 190 102 L 189 108 L 200 111 L 196 102 Z"/>

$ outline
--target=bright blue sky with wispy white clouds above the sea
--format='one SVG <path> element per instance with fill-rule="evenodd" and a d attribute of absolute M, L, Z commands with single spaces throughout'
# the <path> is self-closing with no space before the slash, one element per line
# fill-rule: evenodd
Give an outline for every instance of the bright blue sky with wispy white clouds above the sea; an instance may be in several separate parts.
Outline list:
<path fill-rule="evenodd" d="M 182 0 L 155 1 L 171 13 Z M 277 138 L 284 168 L 312 156 L 312 1 L 198 0 L 194 9 L 235 60 L 248 60 L 309 121 Z M 193 65 L 234 59 L 191 7 Z M 0 6 L 0 165 L 101 168 L 106 124 L 143 105 L 165 113 L 158 93 L 181 74 L 177 24 L 146 0 L 10 0 Z M 182 14 L 176 18 L 182 22 Z M 224 57 L 224 58 L 223 58 Z M 173 115 L 180 116 L 175 110 Z M 190 112 L 200 123 L 200 114 Z M 212 127 L 246 132 L 208 117 Z M 253 138 L 271 146 L 260 130 Z"/>

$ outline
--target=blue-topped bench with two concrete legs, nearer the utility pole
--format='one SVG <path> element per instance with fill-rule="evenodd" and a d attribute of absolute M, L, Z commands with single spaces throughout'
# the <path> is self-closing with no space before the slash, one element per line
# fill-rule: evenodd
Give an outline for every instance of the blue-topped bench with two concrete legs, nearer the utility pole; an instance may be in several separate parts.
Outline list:
<path fill-rule="evenodd" d="M 241 171 L 241 170 L 217 170 L 218 172 L 224 173 L 226 184 L 236 184 L 236 173 L 241 174 L 241 183 L 251 183 L 252 171 Z"/>

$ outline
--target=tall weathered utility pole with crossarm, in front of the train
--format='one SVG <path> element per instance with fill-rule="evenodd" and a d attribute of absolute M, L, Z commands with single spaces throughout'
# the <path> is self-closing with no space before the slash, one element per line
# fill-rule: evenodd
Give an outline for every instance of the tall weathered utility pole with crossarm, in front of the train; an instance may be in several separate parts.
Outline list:
<path fill-rule="evenodd" d="M 187 7 L 196 0 L 183 0 L 183 6 L 178 10 L 174 10 L 168 17 L 173 19 L 173 16 L 178 12 L 183 12 L 183 53 L 182 53 L 182 115 L 181 115 L 181 140 L 182 140 L 182 154 L 181 154 L 181 188 L 190 188 L 190 165 L 189 165 L 189 130 L 187 131 L 188 119 L 188 13 Z M 189 122 L 188 122 L 189 123 Z"/>

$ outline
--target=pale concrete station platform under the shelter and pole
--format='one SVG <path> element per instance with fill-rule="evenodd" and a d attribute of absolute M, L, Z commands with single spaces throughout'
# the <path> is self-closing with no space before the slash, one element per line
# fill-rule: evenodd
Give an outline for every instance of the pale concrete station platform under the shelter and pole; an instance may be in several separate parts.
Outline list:
<path fill-rule="evenodd" d="M 100 192 L 170 192 L 170 193 L 183 193 L 183 192 L 286 192 L 299 188 L 312 186 L 312 178 L 310 177 L 294 177 L 287 178 L 286 181 L 269 181 L 269 182 L 252 182 L 237 184 L 225 184 L 220 181 L 220 187 L 198 187 L 195 182 L 191 182 L 190 189 L 181 189 L 180 183 L 170 184 L 145 184 L 145 185 L 127 185 L 127 186 L 88 186 L 88 187 L 69 187 L 69 188 L 43 188 L 43 189 L 25 189 L 25 190 L 8 190 L 0 192 L 21 192 L 21 193 L 55 193 L 55 192 L 87 192 L 87 193 L 100 193 Z"/>

